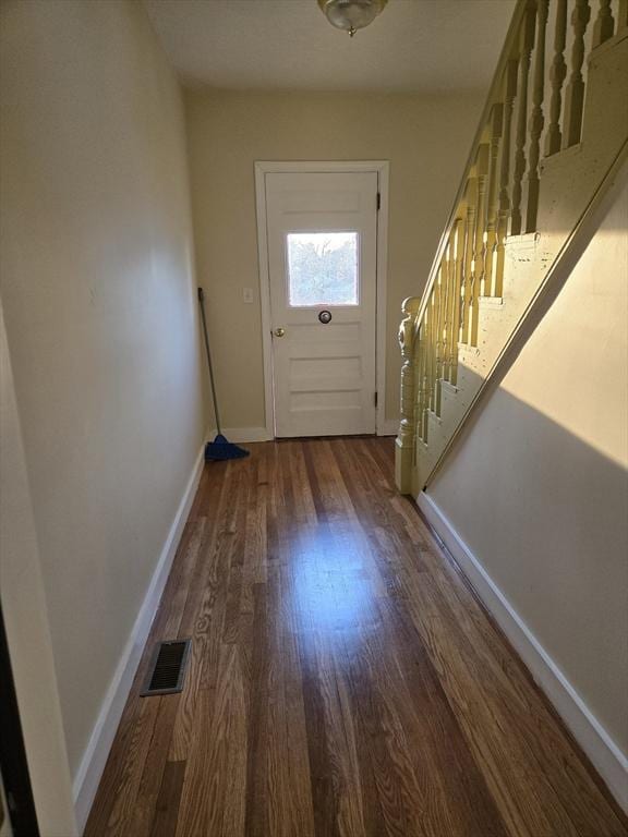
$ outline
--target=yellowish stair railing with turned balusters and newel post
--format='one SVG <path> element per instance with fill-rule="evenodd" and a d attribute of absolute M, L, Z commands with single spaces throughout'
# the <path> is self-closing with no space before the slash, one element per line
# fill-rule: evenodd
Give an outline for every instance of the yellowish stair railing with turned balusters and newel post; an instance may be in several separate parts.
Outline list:
<path fill-rule="evenodd" d="M 502 295 L 507 239 L 536 232 L 542 149 L 547 157 L 580 142 L 588 40 L 594 49 L 626 26 L 628 0 L 518 1 L 425 290 L 403 303 L 397 446 L 406 464 L 416 439 L 427 444 L 428 414 L 440 416 L 444 381 L 456 386 L 459 347 L 478 345 L 480 300 Z M 398 482 L 409 490 L 399 471 L 408 468 L 398 466 Z"/>

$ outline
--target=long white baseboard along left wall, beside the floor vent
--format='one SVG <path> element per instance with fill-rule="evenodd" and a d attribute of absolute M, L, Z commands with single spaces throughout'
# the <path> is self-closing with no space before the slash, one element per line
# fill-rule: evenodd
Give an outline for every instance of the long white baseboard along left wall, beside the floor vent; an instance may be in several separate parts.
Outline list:
<path fill-rule="evenodd" d="M 105 695 L 98 718 L 92 731 L 89 742 L 85 748 L 85 753 L 78 765 L 78 769 L 73 781 L 74 793 L 74 810 L 76 814 L 76 823 L 78 826 L 78 834 L 83 834 L 85 824 L 87 823 L 87 816 L 89 809 L 94 802 L 94 797 L 98 789 L 98 783 L 102 776 L 105 764 L 107 763 L 107 756 L 109 750 L 113 743 L 113 738 L 122 716 L 122 711 L 135 671 L 140 664 L 140 658 L 153 623 L 153 619 L 159 605 L 159 599 L 166 586 L 166 581 L 172 566 L 172 559 L 177 553 L 177 547 L 181 539 L 183 526 L 188 520 L 188 514 L 192 507 L 192 501 L 198 487 L 201 474 L 203 472 L 204 464 L 204 450 L 205 445 L 201 448 L 185 492 L 177 509 L 177 513 L 168 532 L 168 537 L 161 549 L 159 560 L 148 584 L 144 602 L 135 619 L 135 623 L 124 646 L 124 651 L 120 656 L 120 662 L 116 668 L 116 672 L 109 684 L 109 689 Z"/>

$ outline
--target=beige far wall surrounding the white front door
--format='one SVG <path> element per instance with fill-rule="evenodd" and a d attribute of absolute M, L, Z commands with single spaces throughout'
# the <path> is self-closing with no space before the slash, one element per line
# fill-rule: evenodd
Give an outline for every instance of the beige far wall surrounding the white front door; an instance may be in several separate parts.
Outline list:
<path fill-rule="evenodd" d="M 198 279 L 208 293 L 222 423 L 261 427 L 264 383 L 255 160 L 390 161 L 386 416 L 399 415 L 397 329 L 420 294 L 469 153 L 482 96 L 185 94 Z M 255 304 L 242 303 L 242 288 Z"/>

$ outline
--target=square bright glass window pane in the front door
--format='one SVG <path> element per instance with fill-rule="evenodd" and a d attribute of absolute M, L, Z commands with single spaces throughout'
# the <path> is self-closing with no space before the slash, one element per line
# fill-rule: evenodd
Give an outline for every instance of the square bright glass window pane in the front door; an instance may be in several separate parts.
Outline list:
<path fill-rule="evenodd" d="M 358 305 L 358 233 L 288 234 L 288 303 Z"/>

